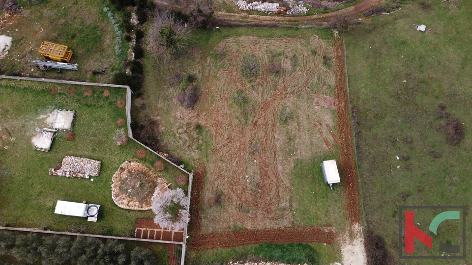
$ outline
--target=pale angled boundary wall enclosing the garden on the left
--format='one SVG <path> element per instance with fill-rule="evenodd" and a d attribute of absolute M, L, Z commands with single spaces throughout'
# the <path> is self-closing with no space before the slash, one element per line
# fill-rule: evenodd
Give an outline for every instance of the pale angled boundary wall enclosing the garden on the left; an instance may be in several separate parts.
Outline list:
<path fill-rule="evenodd" d="M 169 159 L 165 158 L 164 156 L 160 155 L 159 153 L 151 150 L 149 147 L 141 143 L 140 141 L 133 138 L 133 132 L 131 131 L 131 89 L 127 85 L 116 85 L 116 84 L 103 84 L 103 83 L 90 83 L 90 82 L 79 82 L 79 81 L 68 81 L 68 80 L 59 80 L 59 79 L 46 79 L 46 78 L 29 78 L 29 77 L 13 77 L 13 76 L 4 76 L 0 75 L 0 79 L 16 79 L 16 80 L 28 80 L 28 81 L 38 81 L 38 82 L 50 82 L 50 83 L 63 83 L 63 84 L 76 84 L 76 85 L 90 85 L 90 86 L 106 86 L 106 87 L 120 87 L 126 88 L 126 123 L 128 126 L 128 137 L 133 139 L 138 144 L 142 145 L 144 148 L 148 149 L 153 154 L 156 154 L 158 157 L 166 160 L 167 162 L 171 163 L 172 165 L 176 166 L 181 171 L 185 172 L 189 176 L 188 178 L 188 204 L 187 208 L 190 209 L 190 195 L 192 192 L 192 182 L 193 182 L 193 173 L 186 171 L 185 169 L 179 167 L 174 162 L 170 161 Z M 47 233 L 47 234 L 57 234 L 57 235 L 68 235 L 68 236 L 86 236 L 86 237 L 95 237 L 95 238 L 113 238 L 113 239 L 122 239 L 122 240 L 135 240 L 135 241 L 147 241 L 147 242 L 157 242 L 157 243 L 166 243 L 166 244 L 181 244 L 182 245 L 182 258 L 181 258 L 181 265 L 183 265 L 185 260 L 185 249 L 186 249 L 186 242 L 187 242 L 187 228 L 188 222 L 184 229 L 183 234 L 183 243 L 182 242 L 172 242 L 172 241 L 162 241 L 162 240 L 153 240 L 153 239 L 142 239 L 142 238 L 123 238 L 123 237 L 112 237 L 112 236 L 101 236 L 101 235 L 91 235 L 91 234 L 78 234 L 78 233 L 67 233 L 67 232 L 54 232 L 54 231 L 45 231 L 45 230 L 36 230 L 36 229 L 28 229 L 28 228 L 13 228 L 13 227 L 0 227 L 0 229 L 6 230 L 17 230 L 17 231 L 25 231 L 25 232 L 39 232 L 39 233 Z"/>

